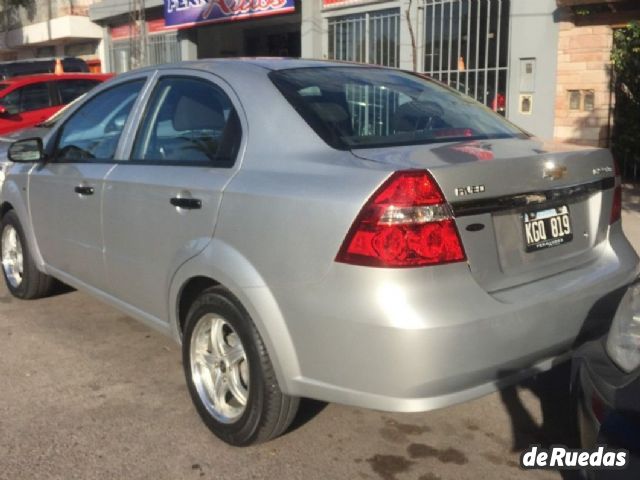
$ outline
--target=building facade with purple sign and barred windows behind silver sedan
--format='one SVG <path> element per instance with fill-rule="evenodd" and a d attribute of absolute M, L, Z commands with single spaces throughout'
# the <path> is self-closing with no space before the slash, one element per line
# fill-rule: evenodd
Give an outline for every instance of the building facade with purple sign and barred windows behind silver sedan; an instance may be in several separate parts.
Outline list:
<path fill-rule="evenodd" d="M 85 0 L 86 1 L 86 0 Z M 414 70 L 543 138 L 606 146 L 613 31 L 636 0 L 103 0 L 102 62 L 233 56 Z"/>

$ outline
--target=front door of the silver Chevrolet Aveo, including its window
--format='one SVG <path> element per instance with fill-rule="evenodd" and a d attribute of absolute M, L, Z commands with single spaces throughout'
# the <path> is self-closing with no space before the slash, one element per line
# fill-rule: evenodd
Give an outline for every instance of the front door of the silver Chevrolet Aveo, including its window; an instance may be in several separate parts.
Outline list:
<path fill-rule="evenodd" d="M 103 180 L 114 167 L 125 123 L 145 80 L 115 85 L 79 106 L 54 135 L 51 160 L 34 168 L 29 178 L 31 220 L 44 261 L 53 273 L 99 289 L 106 278 Z"/>

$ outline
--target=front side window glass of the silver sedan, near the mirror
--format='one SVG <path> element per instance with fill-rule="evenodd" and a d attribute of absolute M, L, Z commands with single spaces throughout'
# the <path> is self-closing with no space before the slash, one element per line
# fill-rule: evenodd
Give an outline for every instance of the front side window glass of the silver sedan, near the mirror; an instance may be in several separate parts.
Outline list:
<path fill-rule="evenodd" d="M 116 85 L 84 103 L 60 130 L 58 162 L 111 161 L 145 80 Z"/>

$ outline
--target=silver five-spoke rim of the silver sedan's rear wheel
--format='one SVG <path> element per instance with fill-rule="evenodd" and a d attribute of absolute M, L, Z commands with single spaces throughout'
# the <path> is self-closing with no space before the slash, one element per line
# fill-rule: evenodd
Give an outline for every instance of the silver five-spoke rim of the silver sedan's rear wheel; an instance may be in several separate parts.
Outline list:
<path fill-rule="evenodd" d="M 191 379 L 207 411 L 222 423 L 244 413 L 249 398 L 249 363 L 240 336 L 224 318 L 207 314 L 190 345 Z"/>

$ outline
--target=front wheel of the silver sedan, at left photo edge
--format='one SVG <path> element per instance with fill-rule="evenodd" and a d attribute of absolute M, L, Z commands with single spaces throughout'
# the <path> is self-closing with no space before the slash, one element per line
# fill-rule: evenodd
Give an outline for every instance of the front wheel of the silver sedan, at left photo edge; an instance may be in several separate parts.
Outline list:
<path fill-rule="evenodd" d="M 7 288 L 14 297 L 24 300 L 45 297 L 56 281 L 36 267 L 20 220 L 9 210 L 0 222 L 0 260 Z"/>

